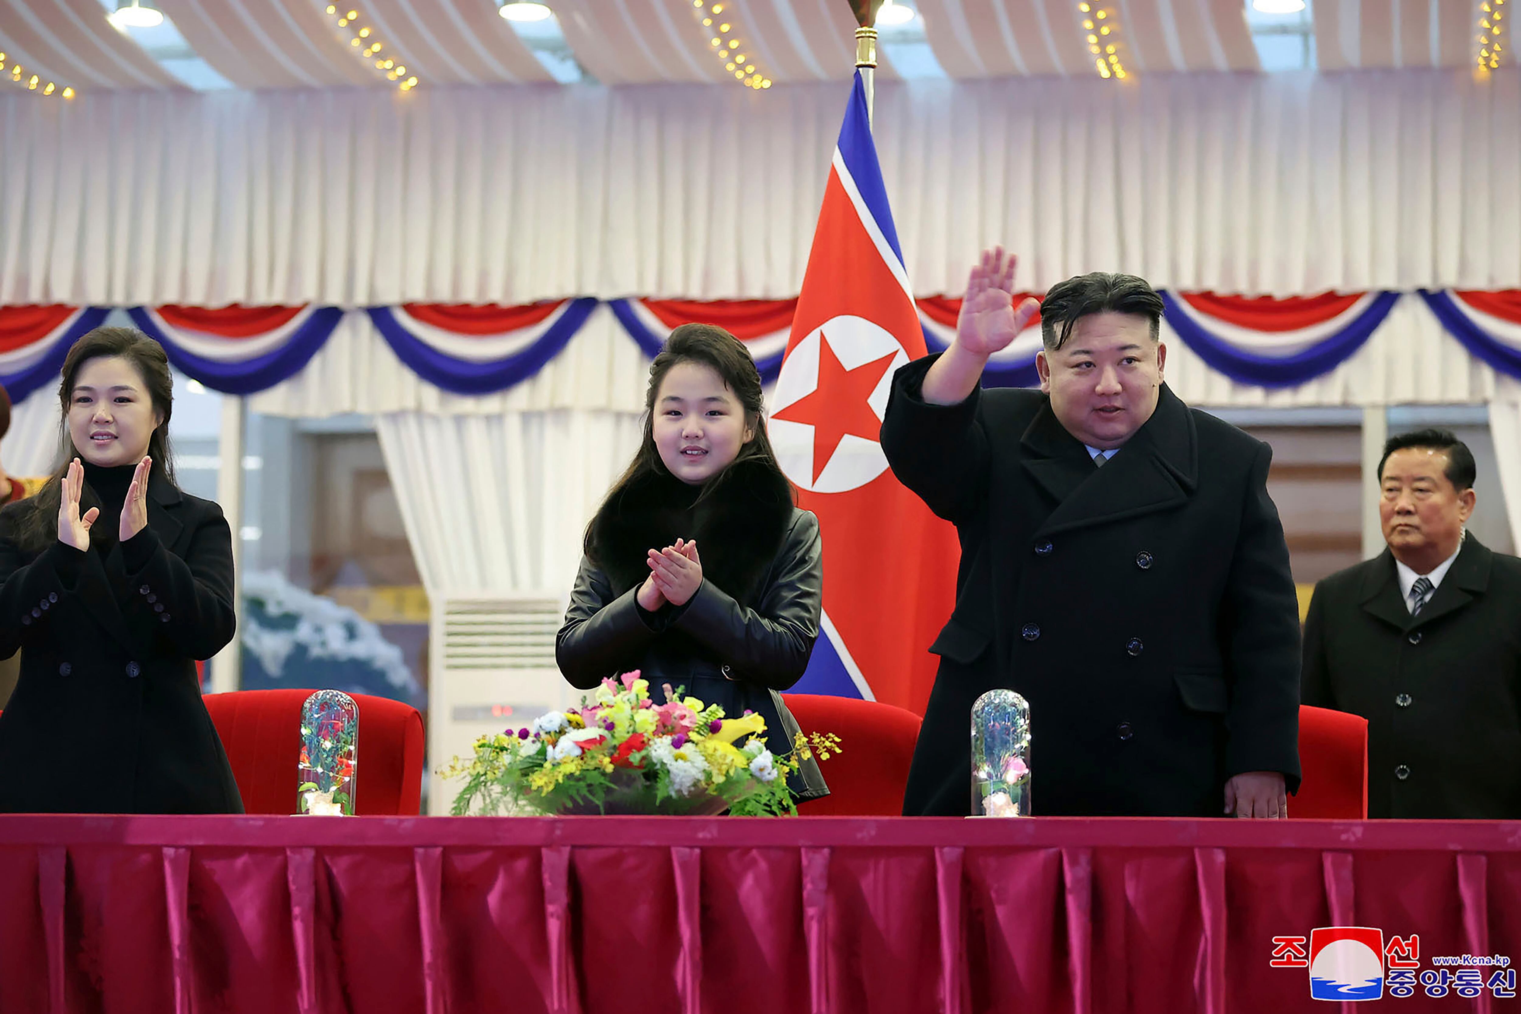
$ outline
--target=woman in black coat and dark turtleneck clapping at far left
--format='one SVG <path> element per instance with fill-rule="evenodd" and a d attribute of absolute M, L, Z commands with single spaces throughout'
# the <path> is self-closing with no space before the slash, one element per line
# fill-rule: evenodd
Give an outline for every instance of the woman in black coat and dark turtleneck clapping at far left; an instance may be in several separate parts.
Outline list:
<path fill-rule="evenodd" d="M 233 639 L 233 538 L 169 468 L 169 360 L 100 327 L 62 374 L 64 464 L 0 511 L 0 810 L 242 813 L 195 670 Z"/>

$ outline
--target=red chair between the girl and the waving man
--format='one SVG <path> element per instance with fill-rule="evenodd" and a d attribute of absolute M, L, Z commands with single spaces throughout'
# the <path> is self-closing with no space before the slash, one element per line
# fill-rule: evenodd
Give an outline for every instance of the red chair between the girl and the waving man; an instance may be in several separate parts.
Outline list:
<path fill-rule="evenodd" d="M 919 739 L 919 716 L 891 704 L 783 693 L 805 733 L 834 733 L 841 753 L 818 769 L 829 795 L 797 807 L 803 816 L 899 816 Z"/>

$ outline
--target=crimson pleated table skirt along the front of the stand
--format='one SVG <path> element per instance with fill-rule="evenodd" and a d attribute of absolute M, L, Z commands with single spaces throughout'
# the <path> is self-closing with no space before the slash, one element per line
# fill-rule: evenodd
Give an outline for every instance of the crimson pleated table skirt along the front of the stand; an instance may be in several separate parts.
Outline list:
<path fill-rule="evenodd" d="M 6 1012 L 1329 1011 L 1320 926 L 1521 959 L 1521 824 L 0 818 Z"/>

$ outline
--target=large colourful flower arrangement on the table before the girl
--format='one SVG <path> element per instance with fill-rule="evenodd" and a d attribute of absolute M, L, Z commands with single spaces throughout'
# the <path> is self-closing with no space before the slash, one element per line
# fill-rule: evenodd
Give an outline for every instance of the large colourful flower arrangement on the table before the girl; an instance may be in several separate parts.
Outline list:
<path fill-rule="evenodd" d="M 468 763 L 455 757 L 440 772 L 465 778 L 452 812 L 797 813 L 786 775 L 811 756 L 840 749 L 832 734 L 799 734 L 791 754 L 776 757 L 759 715 L 727 718 L 716 704 L 665 690 L 657 705 L 649 683 L 630 672 L 604 680 L 580 708 L 482 736 Z"/>

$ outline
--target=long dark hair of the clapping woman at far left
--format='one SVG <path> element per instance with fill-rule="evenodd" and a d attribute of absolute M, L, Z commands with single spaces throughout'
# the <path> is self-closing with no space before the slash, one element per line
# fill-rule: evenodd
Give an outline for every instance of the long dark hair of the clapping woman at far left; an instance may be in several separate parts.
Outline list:
<path fill-rule="evenodd" d="M 79 368 L 91 359 L 117 356 L 132 363 L 148 389 L 149 401 L 163 417 L 148 438 L 148 456 L 154 459 L 154 471 L 163 473 L 169 482 L 175 480 L 169 450 L 169 417 L 175 409 L 175 391 L 164 347 L 132 327 L 97 327 L 75 342 L 64 357 L 62 380 L 58 383 L 58 401 L 62 406 L 62 420 L 58 424 L 58 465 L 37 496 L 21 502 L 29 506 L 24 520 L 17 526 L 17 543 L 23 550 L 40 552 L 58 537 L 56 517 L 62 499 L 62 477 L 68 471 L 68 462 L 84 458 L 68 435 L 68 404 Z"/>

